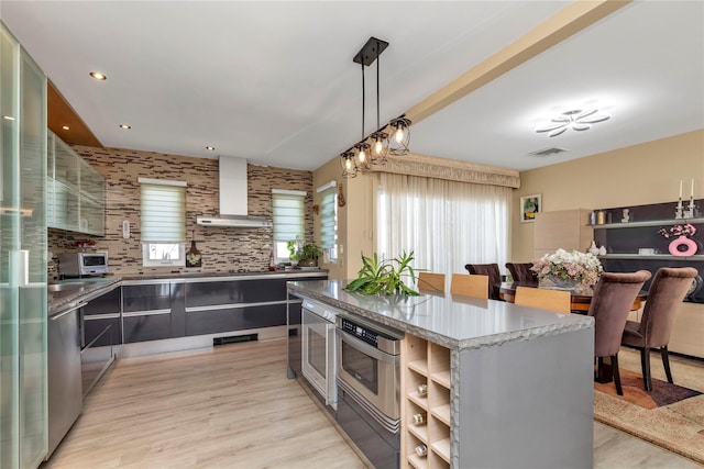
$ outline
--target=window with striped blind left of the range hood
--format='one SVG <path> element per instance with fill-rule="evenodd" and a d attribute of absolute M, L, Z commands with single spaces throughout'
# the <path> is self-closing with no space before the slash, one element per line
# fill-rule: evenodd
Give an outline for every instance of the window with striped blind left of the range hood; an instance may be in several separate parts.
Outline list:
<path fill-rule="evenodd" d="M 186 182 L 140 178 L 142 265 L 186 265 Z"/>

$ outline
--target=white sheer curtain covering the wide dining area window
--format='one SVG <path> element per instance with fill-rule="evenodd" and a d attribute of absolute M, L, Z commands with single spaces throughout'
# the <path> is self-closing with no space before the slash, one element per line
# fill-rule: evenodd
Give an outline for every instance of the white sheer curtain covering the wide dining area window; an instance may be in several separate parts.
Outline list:
<path fill-rule="evenodd" d="M 414 267 L 466 273 L 465 264 L 509 255 L 510 188 L 381 174 L 377 252 L 385 258 L 414 250 Z"/>

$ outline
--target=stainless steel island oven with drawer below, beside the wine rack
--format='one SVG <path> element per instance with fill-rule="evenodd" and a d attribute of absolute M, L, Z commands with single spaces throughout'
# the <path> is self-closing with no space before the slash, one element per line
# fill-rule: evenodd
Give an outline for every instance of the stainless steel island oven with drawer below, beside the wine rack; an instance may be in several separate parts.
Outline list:
<path fill-rule="evenodd" d="M 404 333 L 339 314 L 338 424 L 375 468 L 398 468 Z"/>

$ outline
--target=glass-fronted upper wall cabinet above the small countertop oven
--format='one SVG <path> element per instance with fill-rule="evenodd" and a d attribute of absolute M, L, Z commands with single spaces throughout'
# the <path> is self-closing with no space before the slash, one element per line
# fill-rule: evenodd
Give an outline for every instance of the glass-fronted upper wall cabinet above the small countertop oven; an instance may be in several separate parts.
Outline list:
<path fill-rule="evenodd" d="M 47 226 L 105 236 L 105 177 L 55 134 L 47 134 Z"/>

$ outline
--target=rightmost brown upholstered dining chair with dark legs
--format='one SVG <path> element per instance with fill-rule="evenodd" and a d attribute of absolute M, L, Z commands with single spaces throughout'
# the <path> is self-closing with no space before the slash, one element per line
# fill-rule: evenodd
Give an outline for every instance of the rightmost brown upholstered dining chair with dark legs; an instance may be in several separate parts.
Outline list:
<path fill-rule="evenodd" d="M 644 388 L 648 392 L 652 390 L 650 377 L 650 349 L 652 348 L 660 349 L 664 373 L 668 382 L 672 382 L 668 343 L 674 319 L 696 273 L 696 269 L 692 267 L 658 269 L 648 289 L 648 299 L 640 322 L 626 322 L 622 345 L 640 349 Z"/>

